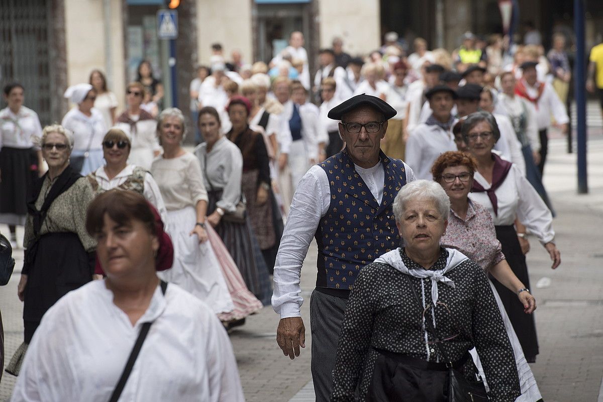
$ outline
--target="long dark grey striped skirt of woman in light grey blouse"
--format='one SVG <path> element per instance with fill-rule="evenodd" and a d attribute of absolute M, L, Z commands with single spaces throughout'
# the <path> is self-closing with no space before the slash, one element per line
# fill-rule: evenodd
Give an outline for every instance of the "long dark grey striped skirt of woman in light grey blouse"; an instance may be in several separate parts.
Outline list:
<path fill-rule="evenodd" d="M 210 215 L 215 211 L 216 203 L 222 198 L 222 190 L 214 190 L 207 193 L 209 195 L 207 215 Z M 253 234 L 253 229 L 251 229 L 249 218 L 246 219 L 244 224 L 222 219 L 215 230 L 239 268 L 247 289 L 264 306 L 270 304 L 272 297 L 270 277 L 268 276 L 268 269 L 262 256 L 262 250 L 260 250 L 256 237 Z"/>

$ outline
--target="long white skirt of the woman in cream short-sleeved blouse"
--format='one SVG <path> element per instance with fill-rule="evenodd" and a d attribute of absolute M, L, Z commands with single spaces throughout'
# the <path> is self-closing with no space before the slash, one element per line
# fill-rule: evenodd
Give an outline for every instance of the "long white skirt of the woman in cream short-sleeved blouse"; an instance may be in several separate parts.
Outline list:
<path fill-rule="evenodd" d="M 232 312 L 232 298 L 211 243 L 199 243 L 197 235 L 191 235 L 196 221 L 191 206 L 168 211 L 166 231 L 174 245 L 174 265 L 157 276 L 195 295 L 216 314 Z"/>

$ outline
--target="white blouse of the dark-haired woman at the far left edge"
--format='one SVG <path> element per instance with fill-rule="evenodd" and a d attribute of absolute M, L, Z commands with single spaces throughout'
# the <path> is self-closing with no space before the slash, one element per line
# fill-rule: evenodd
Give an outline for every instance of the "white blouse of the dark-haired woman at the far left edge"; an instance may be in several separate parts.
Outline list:
<path fill-rule="evenodd" d="M 40 136 L 42 126 L 35 111 L 25 106 L 21 106 L 16 115 L 8 107 L 0 110 L 0 149 L 2 146 L 31 148 L 33 139 Z"/>

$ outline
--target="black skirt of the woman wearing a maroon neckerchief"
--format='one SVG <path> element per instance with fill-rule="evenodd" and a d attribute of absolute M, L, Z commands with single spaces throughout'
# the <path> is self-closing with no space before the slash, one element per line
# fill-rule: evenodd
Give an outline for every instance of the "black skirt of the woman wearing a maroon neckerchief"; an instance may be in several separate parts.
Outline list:
<path fill-rule="evenodd" d="M 526 257 L 522 253 L 522 248 L 517 239 L 517 232 L 513 225 L 496 226 L 496 238 L 502 245 L 502 253 L 505 254 L 508 264 L 511 266 L 513 273 L 522 281 L 525 286 L 530 289 L 528 266 L 526 266 Z M 538 339 L 536 337 L 536 324 L 534 322 L 534 314 L 526 314 L 523 312 L 523 305 L 515 292 L 511 292 L 507 287 L 490 276 L 496 291 L 502 300 L 505 310 L 513 329 L 519 338 L 519 343 L 522 345 L 523 354 L 528 362 L 535 362 L 538 354 Z"/>

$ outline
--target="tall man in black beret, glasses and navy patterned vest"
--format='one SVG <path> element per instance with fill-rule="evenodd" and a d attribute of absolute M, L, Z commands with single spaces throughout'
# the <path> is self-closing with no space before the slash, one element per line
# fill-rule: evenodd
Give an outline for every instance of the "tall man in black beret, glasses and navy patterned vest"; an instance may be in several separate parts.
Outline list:
<path fill-rule="evenodd" d="M 301 265 L 312 237 L 318 245 L 317 280 L 310 301 L 312 378 L 317 401 L 328 401 L 339 328 L 360 269 L 399 247 L 392 204 L 414 180 L 401 160 L 380 151 L 396 110 L 382 99 L 357 95 L 329 111 L 340 120 L 346 148 L 312 166 L 295 190 L 274 267 L 272 305 L 280 315 L 277 342 L 285 356 L 305 347 Z"/>

